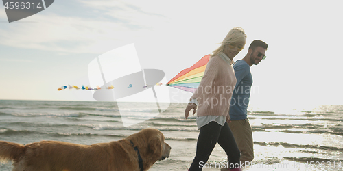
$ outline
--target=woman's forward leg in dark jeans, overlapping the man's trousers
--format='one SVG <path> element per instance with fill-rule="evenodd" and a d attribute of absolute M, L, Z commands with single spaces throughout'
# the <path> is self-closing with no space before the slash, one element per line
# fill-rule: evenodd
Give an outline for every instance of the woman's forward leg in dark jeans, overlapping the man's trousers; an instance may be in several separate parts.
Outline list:
<path fill-rule="evenodd" d="M 233 137 L 233 133 L 230 127 L 228 127 L 227 122 L 222 127 L 217 142 L 225 150 L 226 155 L 228 155 L 229 168 L 238 168 L 241 152 L 238 149 L 235 137 Z"/>

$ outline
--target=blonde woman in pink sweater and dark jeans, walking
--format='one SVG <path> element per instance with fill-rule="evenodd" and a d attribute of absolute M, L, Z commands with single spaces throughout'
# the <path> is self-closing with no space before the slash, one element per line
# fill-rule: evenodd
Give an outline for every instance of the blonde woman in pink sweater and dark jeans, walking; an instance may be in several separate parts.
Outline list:
<path fill-rule="evenodd" d="M 235 27 L 228 32 L 220 47 L 213 51 L 204 77 L 185 109 L 187 119 L 189 111 L 193 109 L 194 115 L 198 107 L 196 122 L 200 129 L 196 157 L 189 168 L 190 171 L 202 170 L 217 142 L 228 155 L 229 168 L 240 170 L 240 152 L 228 127 L 228 110 L 236 84 L 233 57 L 245 44 L 246 34 L 241 27 Z"/>

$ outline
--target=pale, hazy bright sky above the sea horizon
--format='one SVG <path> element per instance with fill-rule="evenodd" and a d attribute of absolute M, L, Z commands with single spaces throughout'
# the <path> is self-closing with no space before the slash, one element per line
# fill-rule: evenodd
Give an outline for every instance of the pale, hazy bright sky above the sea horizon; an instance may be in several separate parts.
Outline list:
<path fill-rule="evenodd" d="M 88 64 L 134 43 L 141 68 L 167 80 L 217 48 L 242 27 L 268 43 L 267 59 L 252 66 L 250 105 L 263 109 L 343 105 L 340 1 L 105 1 L 56 0 L 34 16 L 8 23 L 0 8 L 0 99 L 93 101 Z M 172 102 L 191 93 L 169 88 Z"/>

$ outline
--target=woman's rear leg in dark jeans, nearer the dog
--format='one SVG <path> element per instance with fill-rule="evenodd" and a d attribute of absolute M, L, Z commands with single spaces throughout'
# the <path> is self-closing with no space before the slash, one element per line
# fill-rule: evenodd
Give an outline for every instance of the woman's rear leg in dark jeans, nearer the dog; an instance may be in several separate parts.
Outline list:
<path fill-rule="evenodd" d="M 196 144 L 196 157 L 194 157 L 189 171 L 202 170 L 204 164 L 209 159 L 215 144 L 217 144 L 221 127 L 220 124 L 213 121 L 200 128 L 198 142 Z"/>

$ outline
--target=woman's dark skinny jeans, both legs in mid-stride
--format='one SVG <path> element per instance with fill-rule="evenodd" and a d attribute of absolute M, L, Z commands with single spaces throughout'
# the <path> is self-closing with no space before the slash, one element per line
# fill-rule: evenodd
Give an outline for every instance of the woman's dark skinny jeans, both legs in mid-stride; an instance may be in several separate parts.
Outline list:
<path fill-rule="evenodd" d="M 221 126 L 213 121 L 200 128 L 196 145 L 196 157 L 194 157 L 189 171 L 202 170 L 217 142 L 225 150 L 226 155 L 228 155 L 229 163 L 234 164 L 236 167 L 239 166 L 241 152 L 237 147 L 230 127 L 228 127 L 227 122 L 225 122 L 224 126 Z"/>

